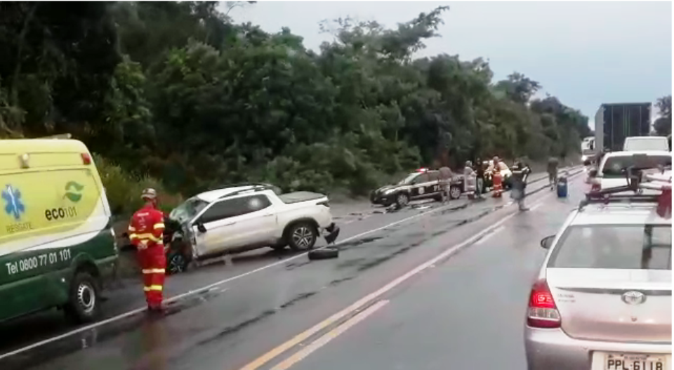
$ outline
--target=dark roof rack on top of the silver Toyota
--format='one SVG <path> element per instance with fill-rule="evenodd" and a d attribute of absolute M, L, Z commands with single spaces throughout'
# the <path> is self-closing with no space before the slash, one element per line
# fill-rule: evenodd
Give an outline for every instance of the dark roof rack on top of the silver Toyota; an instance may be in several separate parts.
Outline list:
<path fill-rule="evenodd" d="M 669 171 L 669 173 L 666 173 Z M 627 185 L 611 187 L 596 192 L 588 192 L 586 199 L 581 200 L 579 211 L 583 211 L 588 204 L 611 203 L 652 203 L 658 204 L 658 213 L 666 217 L 666 209 L 671 214 L 672 176 L 671 166 L 635 170 L 634 166 L 625 169 Z M 640 190 L 661 190 L 661 194 L 639 194 Z M 632 192 L 633 194 L 618 194 Z M 660 214 L 663 211 L 663 214 Z M 663 216 L 664 215 L 664 216 Z"/>

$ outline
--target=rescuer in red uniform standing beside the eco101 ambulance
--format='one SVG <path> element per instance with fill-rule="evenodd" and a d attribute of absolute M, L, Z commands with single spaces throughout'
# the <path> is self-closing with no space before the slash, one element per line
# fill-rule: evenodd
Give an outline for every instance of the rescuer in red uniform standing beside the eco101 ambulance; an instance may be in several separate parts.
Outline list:
<path fill-rule="evenodd" d="M 143 208 L 133 213 L 128 225 L 131 244 L 138 251 L 138 263 L 143 270 L 143 290 L 147 309 L 161 310 L 166 255 L 164 254 L 164 213 L 157 209 L 157 192 L 148 188 L 141 195 Z"/>

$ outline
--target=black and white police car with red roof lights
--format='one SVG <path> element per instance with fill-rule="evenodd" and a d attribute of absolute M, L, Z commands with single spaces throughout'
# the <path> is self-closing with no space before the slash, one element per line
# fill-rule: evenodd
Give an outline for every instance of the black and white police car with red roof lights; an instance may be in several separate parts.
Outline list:
<path fill-rule="evenodd" d="M 373 204 L 406 206 L 410 200 L 433 198 L 442 200 L 440 172 L 418 169 L 410 173 L 396 185 L 386 185 L 370 194 Z M 458 199 L 463 192 L 463 176 L 457 175 L 451 180 L 449 197 Z"/>

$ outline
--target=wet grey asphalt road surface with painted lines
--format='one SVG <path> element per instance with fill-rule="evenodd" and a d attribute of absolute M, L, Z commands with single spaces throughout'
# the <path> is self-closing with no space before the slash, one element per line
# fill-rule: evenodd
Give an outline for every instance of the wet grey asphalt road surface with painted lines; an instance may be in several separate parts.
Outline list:
<path fill-rule="evenodd" d="M 531 183 L 529 190 L 536 190 L 542 185 Z M 548 193 L 548 190 L 532 195 L 529 201 L 533 204 L 544 193 Z M 441 336 L 440 338 L 445 338 L 447 343 L 453 343 L 452 347 L 456 350 L 463 348 L 460 352 L 465 352 L 465 345 L 470 347 L 472 343 L 473 352 L 468 353 L 475 355 L 470 357 L 480 357 L 479 354 L 482 352 L 476 352 L 477 348 L 503 347 L 503 343 L 497 345 L 496 341 L 498 333 L 505 330 L 517 331 L 517 341 L 508 343 L 520 345 L 520 323 L 524 312 L 520 306 L 522 302 L 526 302 L 526 297 L 524 300 L 513 300 L 512 305 L 507 299 L 515 296 L 521 298 L 522 294 L 524 296 L 528 294 L 529 279 L 540 262 L 536 258 L 543 258 L 544 251 L 538 248 L 538 239 L 545 236 L 546 232 L 548 234 L 554 232 L 555 227 L 561 224 L 568 210 L 577 204 L 578 199 L 579 196 L 574 194 L 566 203 L 557 204 L 560 201 L 550 197 L 546 206 L 513 218 L 509 221 L 508 227 L 494 234 L 489 242 L 470 246 L 465 253 L 458 254 L 438 266 L 440 268 L 435 269 L 437 272 L 422 277 L 420 282 L 414 283 L 415 287 L 408 289 L 409 291 L 403 289 L 402 292 L 395 293 L 398 296 L 381 308 L 381 312 L 377 312 L 371 319 L 367 319 L 293 367 L 324 369 L 326 364 L 323 361 L 332 363 L 333 357 L 328 360 L 322 356 L 333 356 L 331 353 L 334 352 L 336 356 L 348 359 L 355 359 L 357 356 L 351 354 L 356 353 L 360 355 L 359 357 L 371 361 L 362 362 L 360 366 L 354 361 L 341 360 L 334 362 L 334 367 L 424 368 L 425 365 L 421 362 L 401 362 L 402 367 L 396 367 L 397 356 L 387 357 L 382 352 L 388 351 L 388 345 L 382 346 L 382 343 L 387 343 L 384 339 L 389 339 L 390 345 L 395 345 L 390 348 L 395 348 L 395 351 L 402 356 L 403 350 L 409 347 L 410 338 L 404 338 L 407 336 L 415 338 L 412 347 L 416 348 L 414 350 L 416 355 L 408 354 L 407 357 L 402 357 L 421 361 L 422 358 L 419 356 L 425 353 L 428 356 L 427 362 L 430 359 L 435 361 L 435 358 L 444 361 L 446 356 L 454 352 L 444 347 L 444 349 L 437 348 L 437 344 L 445 341 L 435 341 L 438 342 L 435 346 L 423 345 L 423 348 L 420 348 L 421 343 L 426 343 L 423 340 L 424 336 L 429 338 L 428 341 Z M 550 201 L 555 204 L 554 207 L 548 206 Z M 287 341 L 300 331 L 376 291 L 416 265 L 437 256 L 449 246 L 467 239 L 504 215 L 512 213 L 514 207 L 505 206 L 508 203 L 510 199 L 505 195 L 503 199 L 487 199 L 474 202 L 470 206 L 468 201 L 459 200 L 444 207 L 439 204 L 423 204 L 396 213 L 369 212 L 366 215 L 357 215 L 354 220 L 356 222 L 343 225 L 340 239 L 355 238 L 340 245 L 341 257 L 336 260 L 310 263 L 305 256 L 298 256 L 284 262 L 293 255 L 257 252 L 234 258 L 231 265 L 223 266 L 222 263 L 215 263 L 201 267 L 199 270 L 171 277 L 167 295 L 175 296 L 213 282 L 234 279 L 213 286 L 211 291 L 176 301 L 169 308 L 166 317 L 150 319 L 142 313 L 131 315 L 68 336 L 63 340 L 0 359 L 0 368 L 238 369 L 266 350 Z M 421 215 L 432 209 L 435 209 L 434 213 Z M 399 223 L 385 227 L 395 222 Z M 379 228 L 381 230 L 359 236 L 368 230 Z M 528 234 L 535 235 L 533 240 L 529 240 L 531 237 L 527 236 Z M 524 242 L 525 240 L 527 242 Z M 498 249 L 498 254 L 484 252 L 485 248 L 496 243 L 503 246 L 503 249 Z M 503 261 L 510 263 L 503 264 Z M 270 263 L 277 265 L 237 278 Z M 502 279 L 501 274 L 508 276 L 508 279 Z M 430 278 L 436 275 L 434 279 Z M 461 284 L 447 286 L 447 279 Z M 445 284 L 440 286 L 442 282 Z M 437 294 L 437 291 L 448 288 L 447 295 Z M 486 297 L 481 296 L 484 293 L 488 293 Z M 466 296 L 484 298 L 484 307 L 475 310 L 466 303 Z M 509 304 L 499 307 L 498 304 L 502 304 L 504 299 Z M 114 316 L 138 308 L 142 302 L 142 293 L 138 289 L 121 287 L 110 293 L 110 301 L 106 303 L 105 310 L 109 316 Z M 418 306 L 419 302 L 423 302 L 423 306 Z M 384 315 L 385 312 L 389 313 Z M 454 312 L 459 319 L 448 321 L 443 312 Z M 498 324 L 494 324 L 496 325 L 494 327 L 481 326 L 474 335 L 470 333 L 468 329 L 471 322 L 490 322 L 490 317 L 482 316 L 493 317 L 494 312 L 496 317 L 505 315 L 515 319 L 505 320 L 507 321 L 505 324 L 501 322 L 503 320 L 497 320 Z M 423 320 L 420 320 L 420 317 L 423 317 Z M 513 324 L 513 321 L 517 324 Z M 460 325 L 458 328 L 452 327 L 457 324 Z M 375 326 L 373 329 L 367 329 L 366 333 L 360 331 L 355 341 L 354 333 L 367 325 Z M 448 329 L 447 325 L 451 330 L 439 333 L 442 328 Z M 40 329 L 36 331 L 34 329 L 36 327 Z M 423 327 L 429 329 L 422 329 Z M 65 330 L 60 315 L 55 312 L 0 326 L 3 333 L 1 352 L 16 348 L 17 343 L 26 345 Z M 456 333 L 468 337 L 462 339 Z M 482 336 L 485 338 L 481 338 Z M 477 345 L 482 341 L 489 344 Z M 352 351 L 348 345 L 357 343 L 359 343 L 357 347 L 360 347 L 357 352 L 344 352 L 344 350 Z M 424 348 L 434 352 L 425 351 Z M 288 353 L 292 351 L 293 349 Z M 521 366 L 517 367 L 516 361 L 517 359 L 522 361 L 521 353 L 513 355 L 511 352 L 503 352 L 503 362 L 512 363 L 515 367 L 506 368 L 520 369 Z M 288 353 L 284 353 L 260 369 L 269 368 L 271 364 L 287 357 Z M 487 359 L 491 356 L 482 355 L 482 357 Z M 390 358 L 390 361 L 381 362 L 383 358 Z M 509 362 L 510 359 L 515 362 Z M 321 361 L 319 362 L 321 366 L 311 365 L 310 361 Z M 437 367 L 431 365 L 429 362 L 428 368 Z M 468 362 L 458 362 L 456 368 L 473 367 L 463 366 L 468 366 Z"/>

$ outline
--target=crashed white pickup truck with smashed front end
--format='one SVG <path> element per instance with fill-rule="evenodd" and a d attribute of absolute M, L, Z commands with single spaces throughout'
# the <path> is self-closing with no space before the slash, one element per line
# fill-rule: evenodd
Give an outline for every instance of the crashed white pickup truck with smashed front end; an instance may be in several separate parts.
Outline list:
<path fill-rule="evenodd" d="M 197 194 L 171 211 L 169 272 L 190 260 L 272 247 L 309 250 L 322 232 L 334 242 L 339 229 L 328 198 L 314 192 L 281 194 L 278 187 L 248 184 Z"/>

